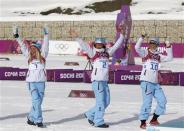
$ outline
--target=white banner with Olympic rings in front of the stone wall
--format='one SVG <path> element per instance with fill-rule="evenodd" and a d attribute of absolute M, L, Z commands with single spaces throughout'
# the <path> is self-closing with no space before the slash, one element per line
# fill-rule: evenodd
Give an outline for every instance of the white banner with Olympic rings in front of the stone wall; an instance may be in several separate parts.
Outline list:
<path fill-rule="evenodd" d="M 76 55 L 79 44 L 76 41 L 49 41 L 49 54 Z"/>

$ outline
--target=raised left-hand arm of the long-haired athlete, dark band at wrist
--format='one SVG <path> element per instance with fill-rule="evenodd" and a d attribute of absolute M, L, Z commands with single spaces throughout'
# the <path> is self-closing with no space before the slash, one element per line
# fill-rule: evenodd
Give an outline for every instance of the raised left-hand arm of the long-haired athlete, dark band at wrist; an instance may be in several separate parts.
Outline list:
<path fill-rule="evenodd" d="M 16 41 L 18 42 L 23 55 L 26 58 L 28 58 L 29 57 L 28 48 L 26 47 L 26 45 L 23 42 L 22 38 L 19 36 L 18 27 L 13 27 L 13 36 L 14 36 L 14 38 L 16 38 Z"/>

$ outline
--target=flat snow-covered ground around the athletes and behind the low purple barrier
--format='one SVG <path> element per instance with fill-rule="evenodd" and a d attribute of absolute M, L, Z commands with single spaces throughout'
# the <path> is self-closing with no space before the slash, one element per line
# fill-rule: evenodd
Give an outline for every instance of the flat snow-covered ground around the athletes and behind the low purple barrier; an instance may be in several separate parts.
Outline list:
<path fill-rule="evenodd" d="M 1 55 L 10 61 L 0 61 L 1 66 L 26 67 L 21 55 Z M 79 56 L 53 56 L 47 60 L 47 68 L 69 68 L 66 61 L 78 61 L 83 69 L 87 61 Z M 136 58 L 136 63 L 140 59 Z M 163 64 L 163 68 L 181 71 L 184 60 L 174 59 Z M 72 68 L 72 67 L 70 67 Z M 139 131 L 138 113 L 141 106 L 139 85 L 110 84 L 111 104 L 105 114 L 109 129 L 97 129 L 88 124 L 83 113 L 95 104 L 94 99 L 69 98 L 72 89 L 90 90 L 86 83 L 47 82 L 43 103 L 44 123 L 47 128 L 38 129 L 26 124 L 26 115 L 31 106 L 30 94 L 24 81 L 0 81 L 0 131 Z M 184 88 L 181 86 L 162 86 L 167 96 L 166 114 L 160 117 L 160 131 L 182 131 L 184 128 Z M 153 103 L 155 107 L 155 102 Z M 154 109 L 154 108 L 153 108 Z M 152 110 L 153 112 L 153 110 Z M 151 118 L 151 117 L 150 117 Z M 158 131 L 158 130 L 157 130 Z"/>

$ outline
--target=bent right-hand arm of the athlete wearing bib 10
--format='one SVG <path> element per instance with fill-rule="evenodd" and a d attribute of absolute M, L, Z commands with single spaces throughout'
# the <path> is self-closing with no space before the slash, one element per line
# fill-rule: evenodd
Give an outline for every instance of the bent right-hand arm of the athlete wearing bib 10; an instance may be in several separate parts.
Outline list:
<path fill-rule="evenodd" d="M 169 43 L 169 41 L 165 42 L 166 45 L 166 53 L 167 55 L 160 55 L 160 61 L 161 62 L 168 62 L 173 59 L 173 51 L 172 51 L 172 46 Z"/>

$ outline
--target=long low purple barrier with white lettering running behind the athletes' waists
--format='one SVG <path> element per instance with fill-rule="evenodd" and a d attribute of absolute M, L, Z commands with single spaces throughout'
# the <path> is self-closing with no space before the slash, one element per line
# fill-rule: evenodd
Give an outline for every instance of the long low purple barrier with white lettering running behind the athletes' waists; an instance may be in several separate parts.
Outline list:
<path fill-rule="evenodd" d="M 27 69 L 0 67 L 0 80 L 25 80 Z M 90 70 L 48 69 L 47 80 L 53 82 L 91 82 Z M 114 70 L 109 72 L 109 83 L 139 84 L 140 71 Z M 162 85 L 184 86 L 184 72 L 163 71 L 159 73 Z"/>

